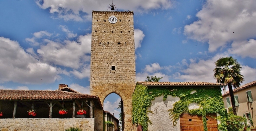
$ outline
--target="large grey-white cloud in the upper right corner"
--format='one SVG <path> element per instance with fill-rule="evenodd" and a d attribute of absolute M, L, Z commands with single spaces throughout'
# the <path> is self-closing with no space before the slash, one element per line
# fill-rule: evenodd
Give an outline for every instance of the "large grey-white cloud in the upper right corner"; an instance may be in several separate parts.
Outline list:
<path fill-rule="evenodd" d="M 207 0 L 199 20 L 184 27 L 190 39 L 209 43 L 209 51 L 256 37 L 255 0 Z M 234 32 L 234 33 L 233 33 Z"/>

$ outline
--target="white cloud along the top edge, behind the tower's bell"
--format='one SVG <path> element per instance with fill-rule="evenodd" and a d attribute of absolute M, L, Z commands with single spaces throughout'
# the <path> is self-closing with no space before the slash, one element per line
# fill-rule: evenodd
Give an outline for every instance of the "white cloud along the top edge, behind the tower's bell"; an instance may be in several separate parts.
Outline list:
<path fill-rule="evenodd" d="M 58 13 L 64 20 L 83 21 L 91 19 L 92 11 L 107 11 L 111 1 L 106 0 L 37 0 L 36 3 L 50 13 Z M 173 6 L 171 0 L 120 0 L 114 1 L 117 9 L 136 11 L 140 13 L 153 9 L 169 9 Z M 82 15 L 86 13 L 86 15 Z"/>

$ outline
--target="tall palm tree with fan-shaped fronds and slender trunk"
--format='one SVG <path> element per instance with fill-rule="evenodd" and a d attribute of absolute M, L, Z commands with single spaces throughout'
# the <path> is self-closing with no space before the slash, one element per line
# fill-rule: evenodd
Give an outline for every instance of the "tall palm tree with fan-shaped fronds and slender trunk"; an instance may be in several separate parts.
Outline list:
<path fill-rule="evenodd" d="M 243 75 L 240 73 L 242 66 L 232 56 L 221 57 L 215 62 L 215 66 L 214 78 L 217 83 L 225 83 L 228 85 L 233 112 L 234 115 L 236 115 L 236 105 L 232 85 L 236 89 L 241 85 L 240 83 L 244 81 Z"/>

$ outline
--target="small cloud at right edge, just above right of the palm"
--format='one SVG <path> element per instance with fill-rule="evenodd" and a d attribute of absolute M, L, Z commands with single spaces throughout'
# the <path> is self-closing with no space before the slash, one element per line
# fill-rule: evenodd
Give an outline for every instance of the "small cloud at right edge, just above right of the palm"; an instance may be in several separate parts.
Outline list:
<path fill-rule="evenodd" d="M 233 42 L 232 48 L 229 49 L 229 53 L 236 54 L 242 57 L 256 58 L 256 40 L 250 39 L 242 42 Z"/>

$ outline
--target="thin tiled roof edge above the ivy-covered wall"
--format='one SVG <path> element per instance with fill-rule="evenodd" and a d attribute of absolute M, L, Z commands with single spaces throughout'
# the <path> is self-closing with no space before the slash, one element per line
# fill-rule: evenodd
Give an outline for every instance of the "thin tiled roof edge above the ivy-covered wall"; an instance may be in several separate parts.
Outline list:
<path fill-rule="evenodd" d="M 222 83 L 211 83 L 211 82 L 141 82 L 138 84 L 143 84 L 149 86 L 227 86 Z"/>

